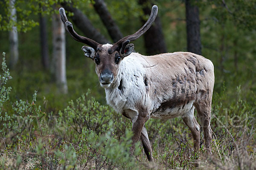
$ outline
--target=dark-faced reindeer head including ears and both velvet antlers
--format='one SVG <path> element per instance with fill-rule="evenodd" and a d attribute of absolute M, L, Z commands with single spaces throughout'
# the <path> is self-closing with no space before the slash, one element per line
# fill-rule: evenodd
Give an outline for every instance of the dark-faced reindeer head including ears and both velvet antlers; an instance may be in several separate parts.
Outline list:
<path fill-rule="evenodd" d="M 70 35 L 75 40 L 88 45 L 83 46 L 82 51 L 86 57 L 91 58 L 96 63 L 96 73 L 99 77 L 100 85 L 104 88 L 108 88 L 111 86 L 118 74 L 119 63 L 123 58 L 130 55 L 134 49 L 134 45 L 129 44 L 130 41 L 136 40 L 149 29 L 157 17 L 157 10 L 157 6 L 154 5 L 147 22 L 137 32 L 135 32 L 133 35 L 123 37 L 121 40 L 112 45 L 102 45 L 87 37 L 78 35 L 74 31 L 72 23 L 67 20 L 65 10 L 60 8 L 59 12 L 61 15 L 61 20 Z"/>

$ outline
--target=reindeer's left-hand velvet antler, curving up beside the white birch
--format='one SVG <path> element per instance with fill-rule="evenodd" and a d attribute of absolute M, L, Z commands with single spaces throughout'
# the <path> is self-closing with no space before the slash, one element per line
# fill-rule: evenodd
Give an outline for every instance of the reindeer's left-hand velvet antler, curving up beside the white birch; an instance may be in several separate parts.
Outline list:
<path fill-rule="evenodd" d="M 67 20 L 67 16 L 66 16 L 66 13 L 65 13 L 65 10 L 64 8 L 60 8 L 59 9 L 59 13 L 61 15 L 61 20 L 62 20 L 62 23 L 64 24 L 67 32 L 70 33 L 70 35 L 76 40 L 76 41 L 79 41 L 81 43 L 85 43 L 87 44 L 88 46 L 91 46 L 93 47 L 93 49 L 97 49 L 97 46 L 99 46 L 100 44 L 97 43 L 96 41 L 94 40 L 91 40 L 90 38 L 87 38 L 87 37 L 83 37 L 81 35 L 78 35 L 75 30 L 73 29 L 73 25 L 72 23 L 70 23 L 70 21 Z"/>

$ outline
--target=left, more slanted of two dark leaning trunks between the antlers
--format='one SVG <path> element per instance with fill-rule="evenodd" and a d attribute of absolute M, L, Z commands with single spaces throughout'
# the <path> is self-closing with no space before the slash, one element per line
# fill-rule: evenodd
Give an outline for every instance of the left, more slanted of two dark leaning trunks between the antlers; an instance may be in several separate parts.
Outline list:
<path fill-rule="evenodd" d="M 87 38 L 95 40 L 98 43 L 106 44 L 109 41 L 93 27 L 90 20 L 84 15 L 79 9 L 76 9 L 72 6 L 71 3 L 61 3 L 65 10 L 73 12 L 71 19 L 73 23 L 84 33 Z"/>

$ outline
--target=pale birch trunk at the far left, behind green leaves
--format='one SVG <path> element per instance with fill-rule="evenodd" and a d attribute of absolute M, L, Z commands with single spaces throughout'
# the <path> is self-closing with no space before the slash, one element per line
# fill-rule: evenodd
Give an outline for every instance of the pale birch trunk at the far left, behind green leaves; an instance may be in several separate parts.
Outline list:
<path fill-rule="evenodd" d="M 15 9 L 15 0 L 10 0 L 10 20 L 13 23 L 17 22 L 16 9 Z M 19 59 L 19 51 L 18 51 L 18 32 L 17 27 L 12 26 L 12 29 L 9 33 L 9 41 L 10 41 L 10 67 L 14 68 Z"/>

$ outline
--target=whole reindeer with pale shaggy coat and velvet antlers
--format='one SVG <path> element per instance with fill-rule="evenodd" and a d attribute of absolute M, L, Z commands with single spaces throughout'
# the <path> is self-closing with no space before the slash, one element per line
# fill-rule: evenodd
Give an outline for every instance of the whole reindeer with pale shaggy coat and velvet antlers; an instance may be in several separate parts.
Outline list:
<path fill-rule="evenodd" d="M 145 122 L 149 118 L 177 116 L 181 116 L 191 130 L 195 150 L 199 150 L 200 125 L 194 117 L 195 108 L 203 127 L 207 153 L 211 154 L 212 62 L 191 52 L 153 56 L 133 52 L 134 44 L 130 42 L 149 29 L 157 11 L 158 7 L 153 6 L 147 22 L 133 35 L 114 44 L 102 45 L 78 35 L 67 20 L 64 9 L 59 9 L 61 20 L 70 35 L 88 45 L 83 46 L 82 51 L 96 63 L 96 74 L 100 86 L 105 88 L 107 103 L 132 121 L 131 154 L 134 144 L 141 139 L 148 160 L 153 161 Z"/>

